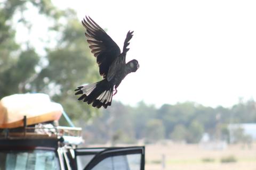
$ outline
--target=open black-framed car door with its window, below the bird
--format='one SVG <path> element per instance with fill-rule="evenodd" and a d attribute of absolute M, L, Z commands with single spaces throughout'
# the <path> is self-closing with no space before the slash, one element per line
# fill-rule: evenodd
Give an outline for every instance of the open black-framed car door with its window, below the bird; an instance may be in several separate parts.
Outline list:
<path fill-rule="evenodd" d="M 144 170 L 145 147 L 75 149 L 78 170 Z"/>

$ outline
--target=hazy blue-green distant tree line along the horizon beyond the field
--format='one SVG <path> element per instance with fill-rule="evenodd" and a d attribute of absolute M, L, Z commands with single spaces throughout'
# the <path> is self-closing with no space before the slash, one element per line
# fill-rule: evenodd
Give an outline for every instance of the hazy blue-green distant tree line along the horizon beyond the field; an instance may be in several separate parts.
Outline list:
<path fill-rule="evenodd" d="M 114 101 L 100 116 L 86 125 L 83 123 L 83 128 L 87 143 L 134 143 L 138 140 L 154 143 L 165 139 L 197 143 L 204 133 L 208 133 L 211 140 L 229 142 L 228 124 L 255 122 L 254 100 L 241 101 L 230 108 L 212 108 L 193 102 L 156 108 L 143 101 L 131 107 Z M 241 133 L 238 135 L 241 137 Z"/>

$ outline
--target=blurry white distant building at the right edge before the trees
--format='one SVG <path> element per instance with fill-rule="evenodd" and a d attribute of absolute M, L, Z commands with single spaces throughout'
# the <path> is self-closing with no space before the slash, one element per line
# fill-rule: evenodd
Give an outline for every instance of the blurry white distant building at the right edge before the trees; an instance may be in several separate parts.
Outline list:
<path fill-rule="evenodd" d="M 239 137 L 239 133 L 250 137 L 253 141 L 256 141 L 256 123 L 241 123 L 241 124 L 229 124 L 229 137 L 230 143 L 234 143 Z"/>

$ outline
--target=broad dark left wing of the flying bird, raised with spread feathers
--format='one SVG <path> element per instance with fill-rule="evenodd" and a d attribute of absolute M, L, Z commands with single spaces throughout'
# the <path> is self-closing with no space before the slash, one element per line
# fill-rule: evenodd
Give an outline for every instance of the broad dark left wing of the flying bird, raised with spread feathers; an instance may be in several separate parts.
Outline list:
<path fill-rule="evenodd" d="M 82 24 L 91 52 L 97 57 L 100 75 L 106 78 L 111 63 L 121 54 L 120 48 L 90 16 L 85 16 Z"/>

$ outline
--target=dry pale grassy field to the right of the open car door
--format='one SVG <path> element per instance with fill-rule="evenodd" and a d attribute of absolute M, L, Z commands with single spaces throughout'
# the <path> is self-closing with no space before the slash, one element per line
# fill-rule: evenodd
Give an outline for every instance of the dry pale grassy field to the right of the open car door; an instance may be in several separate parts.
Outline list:
<path fill-rule="evenodd" d="M 165 168 L 162 165 L 163 155 L 165 157 Z M 223 159 L 226 160 L 225 163 L 221 162 Z M 241 145 L 231 145 L 225 150 L 205 150 L 198 145 L 174 143 L 146 145 L 145 169 L 256 170 L 256 145 L 250 149 L 242 148 Z"/>

